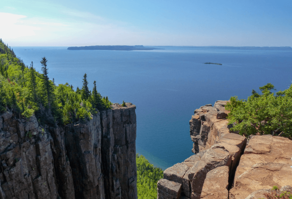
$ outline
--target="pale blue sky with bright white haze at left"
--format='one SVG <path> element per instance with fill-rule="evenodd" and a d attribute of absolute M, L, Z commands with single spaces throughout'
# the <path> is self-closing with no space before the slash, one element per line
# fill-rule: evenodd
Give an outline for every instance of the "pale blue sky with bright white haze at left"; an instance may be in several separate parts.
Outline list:
<path fill-rule="evenodd" d="M 292 0 L 3 0 L 9 46 L 292 46 Z"/>

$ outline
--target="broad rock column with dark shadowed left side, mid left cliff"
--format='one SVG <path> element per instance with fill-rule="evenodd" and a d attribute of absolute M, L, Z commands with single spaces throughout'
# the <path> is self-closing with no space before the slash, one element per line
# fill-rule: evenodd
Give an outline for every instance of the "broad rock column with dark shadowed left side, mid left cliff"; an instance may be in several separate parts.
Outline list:
<path fill-rule="evenodd" d="M 66 125 L 64 137 L 75 198 L 104 199 L 99 116 L 93 116 L 89 123 Z"/>

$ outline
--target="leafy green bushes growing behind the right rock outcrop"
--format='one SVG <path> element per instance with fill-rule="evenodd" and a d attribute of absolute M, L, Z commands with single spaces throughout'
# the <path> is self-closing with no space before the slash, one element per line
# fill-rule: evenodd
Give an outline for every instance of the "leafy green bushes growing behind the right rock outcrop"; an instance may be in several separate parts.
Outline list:
<path fill-rule="evenodd" d="M 262 94 L 252 90 L 247 100 L 230 98 L 225 106 L 229 124 L 235 124 L 231 130 L 241 135 L 272 134 L 292 136 L 292 85 L 275 96 L 271 92 L 274 86 L 268 83 L 259 88 Z M 275 89 L 274 89 L 275 90 Z"/>

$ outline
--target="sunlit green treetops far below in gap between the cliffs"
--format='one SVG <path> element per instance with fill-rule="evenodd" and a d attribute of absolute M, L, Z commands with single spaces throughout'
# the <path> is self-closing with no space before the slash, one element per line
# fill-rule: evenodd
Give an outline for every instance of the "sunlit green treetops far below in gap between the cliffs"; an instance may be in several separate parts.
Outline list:
<path fill-rule="evenodd" d="M 136 154 L 138 199 L 156 199 L 157 182 L 163 178 L 163 170 L 154 167 L 148 160 Z"/>

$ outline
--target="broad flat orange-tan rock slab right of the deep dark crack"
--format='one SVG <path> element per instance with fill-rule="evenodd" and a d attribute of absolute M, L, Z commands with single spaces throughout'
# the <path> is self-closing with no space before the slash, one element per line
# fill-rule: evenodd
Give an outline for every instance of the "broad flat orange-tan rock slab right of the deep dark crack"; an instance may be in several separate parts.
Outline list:
<path fill-rule="evenodd" d="M 259 189 L 292 186 L 292 140 L 253 136 L 237 167 L 230 198 L 246 198 Z"/>

